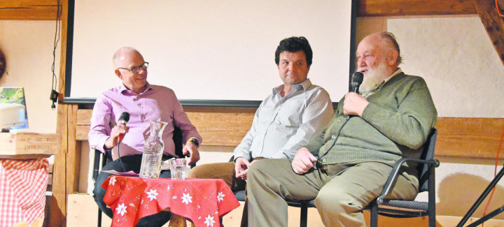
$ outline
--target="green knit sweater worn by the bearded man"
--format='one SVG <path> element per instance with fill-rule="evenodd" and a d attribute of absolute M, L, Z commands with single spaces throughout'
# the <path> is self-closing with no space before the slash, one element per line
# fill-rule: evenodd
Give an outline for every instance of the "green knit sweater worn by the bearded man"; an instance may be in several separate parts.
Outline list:
<path fill-rule="evenodd" d="M 432 97 L 426 82 L 418 76 L 395 75 L 367 97 L 370 103 L 363 117 L 351 117 L 346 124 L 343 101 L 339 101 L 328 126 L 305 146 L 322 165 L 360 161 L 393 165 L 402 156 L 419 158 L 436 124 Z M 415 166 L 410 165 L 407 172 L 416 173 Z"/>

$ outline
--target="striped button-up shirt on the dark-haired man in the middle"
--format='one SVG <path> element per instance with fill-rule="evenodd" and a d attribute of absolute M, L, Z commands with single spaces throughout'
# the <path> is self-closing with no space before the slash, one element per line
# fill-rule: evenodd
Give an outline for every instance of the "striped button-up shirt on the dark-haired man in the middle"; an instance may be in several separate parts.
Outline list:
<path fill-rule="evenodd" d="M 334 115 L 328 92 L 309 79 L 293 85 L 284 97 L 282 90 L 283 85 L 275 87 L 262 101 L 251 129 L 235 149 L 235 159 L 293 159 Z"/>

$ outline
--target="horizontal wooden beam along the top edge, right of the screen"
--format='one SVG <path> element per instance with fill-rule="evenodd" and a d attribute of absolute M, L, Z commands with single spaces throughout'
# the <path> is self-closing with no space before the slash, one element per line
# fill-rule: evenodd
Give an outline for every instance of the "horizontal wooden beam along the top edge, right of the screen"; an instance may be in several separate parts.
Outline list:
<path fill-rule="evenodd" d="M 471 0 L 358 0 L 358 17 L 476 14 Z"/>

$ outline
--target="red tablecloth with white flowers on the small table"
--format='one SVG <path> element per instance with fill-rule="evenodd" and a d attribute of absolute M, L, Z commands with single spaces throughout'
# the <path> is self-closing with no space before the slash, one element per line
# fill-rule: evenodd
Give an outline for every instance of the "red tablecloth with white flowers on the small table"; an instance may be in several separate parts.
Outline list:
<path fill-rule="evenodd" d="M 195 226 L 222 226 L 220 217 L 239 207 L 223 180 L 171 180 L 111 176 L 103 184 L 104 202 L 113 210 L 112 226 L 135 226 L 139 219 L 169 207 Z"/>

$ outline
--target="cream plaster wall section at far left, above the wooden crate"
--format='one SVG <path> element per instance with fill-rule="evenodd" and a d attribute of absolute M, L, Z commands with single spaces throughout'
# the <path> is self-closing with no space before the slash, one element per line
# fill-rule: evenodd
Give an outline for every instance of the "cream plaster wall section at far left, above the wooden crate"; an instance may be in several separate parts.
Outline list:
<path fill-rule="evenodd" d="M 57 110 L 49 100 L 55 22 L 0 20 L 0 50 L 6 55 L 6 73 L 0 87 L 25 87 L 27 131 L 56 133 Z M 56 50 L 59 75 L 59 45 Z"/>

